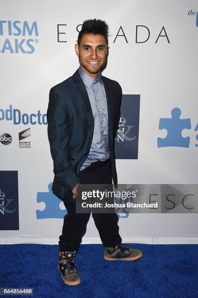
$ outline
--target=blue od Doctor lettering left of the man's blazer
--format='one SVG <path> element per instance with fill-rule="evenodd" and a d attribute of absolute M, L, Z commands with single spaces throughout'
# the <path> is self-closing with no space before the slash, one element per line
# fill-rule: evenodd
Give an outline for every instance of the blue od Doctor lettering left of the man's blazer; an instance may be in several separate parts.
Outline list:
<path fill-rule="evenodd" d="M 20 110 L 13 109 L 12 105 L 10 105 L 9 109 L 6 109 L 5 111 L 0 109 L 0 120 L 8 120 L 13 121 L 14 124 L 44 124 L 47 125 L 47 114 L 41 114 L 40 111 L 37 111 L 36 114 L 30 114 L 27 113 L 22 114 Z"/>

